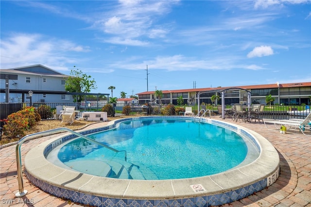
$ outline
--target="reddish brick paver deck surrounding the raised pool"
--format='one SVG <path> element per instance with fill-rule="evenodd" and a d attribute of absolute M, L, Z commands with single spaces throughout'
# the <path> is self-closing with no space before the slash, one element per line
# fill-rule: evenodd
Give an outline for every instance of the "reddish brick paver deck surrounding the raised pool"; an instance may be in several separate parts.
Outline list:
<path fill-rule="evenodd" d="M 212 119 L 219 119 L 212 117 Z M 223 121 L 233 122 L 231 119 Z M 96 128 L 108 122 L 96 123 L 87 128 Z M 311 136 L 295 131 L 280 134 L 267 130 L 263 123 L 235 122 L 268 139 L 279 152 L 281 172 L 276 182 L 254 195 L 224 206 L 233 207 L 311 207 Z M 21 146 L 22 163 L 27 152 L 51 137 L 26 141 Z M 24 176 L 24 189 L 28 193 L 16 198 L 18 192 L 16 145 L 0 149 L 0 198 L 1 207 L 81 207 L 79 204 L 54 197 L 36 188 Z"/>

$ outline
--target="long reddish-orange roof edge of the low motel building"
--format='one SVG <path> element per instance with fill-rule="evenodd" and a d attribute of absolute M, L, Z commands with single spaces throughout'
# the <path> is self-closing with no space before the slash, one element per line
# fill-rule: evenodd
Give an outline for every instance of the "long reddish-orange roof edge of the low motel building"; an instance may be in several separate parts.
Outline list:
<path fill-rule="evenodd" d="M 303 87 L 311 86 L 311 82 L 305 83 L 289 83 L 289 84 L 263 84 L 263 85 L 252 85 L 252 86 L 228 86 L 228 87 L 207 87 L 207 88 L 191 88 L 191 89 L 177 89 L 177 90 L 162 90 L 162 93 L 183 93 L 183 92 L 202 92 L 202 91 L 213 91 L 213 90 L 224 90 L 227 88 L 242 88 L 242 89 L 268 89 L 268 88 L 282 88 L 282 87 Z M 137 93 L 137 95 L 154 94 L 155 91 L 145 91 Z"/>

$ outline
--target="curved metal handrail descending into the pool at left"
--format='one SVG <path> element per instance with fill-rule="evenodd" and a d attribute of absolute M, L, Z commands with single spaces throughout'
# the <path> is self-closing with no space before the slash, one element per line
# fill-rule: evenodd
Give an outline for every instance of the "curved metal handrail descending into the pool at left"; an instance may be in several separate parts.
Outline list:
<path fill-rule="evenodd" d="M 25 137 L 21 138 L 18 142 L 17 142 L 17 145 L 16 145 L 16 162 L 17 162 L 17 180 L 18 180 L 18 192 L 15 194 L 16 197 L 22 197 L 24 195 L 27 194 L 27 190 L 24 190 L 24 184 L 23 184 L 23 177 L 22 177 L 22 170 L 21 170 L 21 155 L 20 155 L 20 147 L 21 147 L 21 144 L 26 141 L 28 138 L 33 138 L 33 137 L 36 137 L 38 135 L 48 135 L 48 134 L 51 134 L 51 133 L 55 133 L 55 132 L 61 132 L 61 131 L 68 131 L 70 132 L 71 134 L 74 134 L 78 137 L 81 137 L 81 138 L 84 138 L 88 141 L 91 141 L 91 142 L 94 142 L 102 147 L 105 147 L 109 150 L 112 150 L 116 153 L 119 153 L 119 152 L 124 152 L 124 159 L 125 161 L 127 161 L 127 157 L 126 157 L 126 151 L 125 150 L 116 150 L 112 147 L 109 147 L 101 142 L 98 142 L 98 141 L 95 141 L 94 139 L 91 139 L 91 138 L 88 138 L 78 132 L 75 132 L 75 131 L 72 131 L 71 129 L 68 129 L 68 128 L 65 128 L 65 127 L 61 127 L 61 128 L 57 128 L 57 129 L 51 129 L 51 130 L 48 130 L 48 131 L 44 131 L 44 132 L 37 132 L 37 133 L 34 133 L 34 134 L 31 134 L 31 135 L 26 135 Z"/>

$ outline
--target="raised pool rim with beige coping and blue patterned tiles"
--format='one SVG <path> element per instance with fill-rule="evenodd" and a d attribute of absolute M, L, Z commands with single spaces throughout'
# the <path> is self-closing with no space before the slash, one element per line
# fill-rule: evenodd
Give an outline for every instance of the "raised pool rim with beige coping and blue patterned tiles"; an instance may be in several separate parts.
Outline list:
<path fill-rule="evenodd" d="M 141 117 L 126 120 L 150 118 L 159 119 Z M 194 120 L 193 117 L 174 118 Z M 49 162 L 45 158 L 48 152 L 75 138 L 67 134 L 32 149 L 25 157 L 25 173 L 40 189 L 57 197 L 91 206 L 219 206 L 252 195 L 276 181 L 279 174 L 279 156 L 270 142 L 236 124 L 211 119 L 201 121 L 222 126 L 249 138 L 259 150 L 259 157 L 244 166 L 201 177 L 166 180 L 115 179 L 72 171 Z M 112 129 L 120 122 L 121 120 L 112 121 L 110 125 L 80 133 L 88 135 Z"/>

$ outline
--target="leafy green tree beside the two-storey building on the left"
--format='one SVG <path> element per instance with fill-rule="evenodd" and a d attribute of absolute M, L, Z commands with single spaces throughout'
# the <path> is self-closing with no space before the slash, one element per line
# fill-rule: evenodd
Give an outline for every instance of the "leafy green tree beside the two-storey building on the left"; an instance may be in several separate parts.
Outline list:
<path fill-rule="evenodd" d="M 79 69 L 71 69 L 70 76 L 65 83 L 66 91 L 71 93 L 89 93 L 91 89 L 96 88 L 96 82 L 94 79 L 91 80 L 90 75 L 86 75 Z M 80 103 L 82 101 L 82 96 L 73 96 L 73 101 Z"/>

